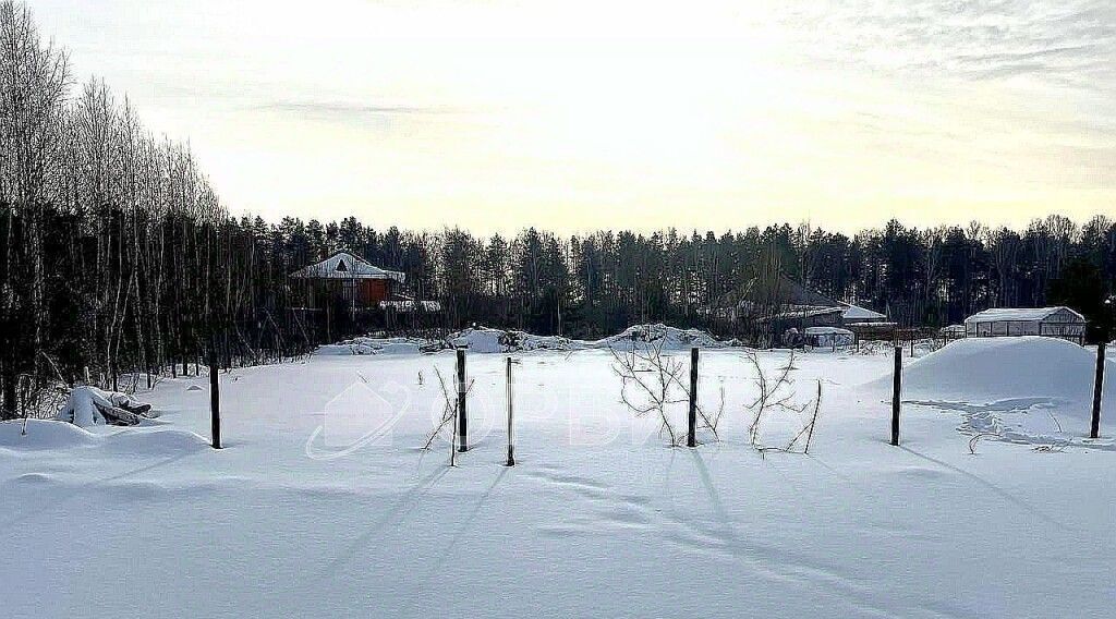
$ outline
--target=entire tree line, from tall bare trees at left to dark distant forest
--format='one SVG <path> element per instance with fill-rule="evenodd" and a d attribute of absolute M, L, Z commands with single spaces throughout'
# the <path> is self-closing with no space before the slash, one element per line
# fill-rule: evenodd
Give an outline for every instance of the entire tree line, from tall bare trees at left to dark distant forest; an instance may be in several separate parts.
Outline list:
<path fill-rule="evenodd" d="M 45 381 L 112 386 L 206 350 L 225 364 L 308 350 L 324 333 L 290 310 L 304 300 L 288 274 L 336 249 L 406 273 L 412 294 L 442 301 L 442 328 L 575 337 L 650 321 L 738 333 L 710 310 L 777 272 L 904 326 L 1066 303 L 1103 337 L 1116 282 L 1116 223 L 1104 216 L 1022 231 L 892 221 L 852 236 L 782 224 L 513 238 L 237 219 L 187 146 L 145 129 L 103 81 L 76 86 L 29 11 L 0 0 L 0 416 Z"/>

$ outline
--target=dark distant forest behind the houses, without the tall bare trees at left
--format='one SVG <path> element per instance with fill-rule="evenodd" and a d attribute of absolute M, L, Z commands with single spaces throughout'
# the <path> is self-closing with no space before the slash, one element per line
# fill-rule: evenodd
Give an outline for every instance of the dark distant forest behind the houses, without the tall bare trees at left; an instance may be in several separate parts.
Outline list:
<path fill-rule="evenodd" d="M 383 234 L 354 217 L 283 226 L 292 235 L 279 239 L 308 246 L 307 260 L 346 248 L 403 270 L 421 293 L 443 300 L 448 326 L 480 321 L 577 337 L 648 321 L 731 335 L 733 326 L 719 325 L 709 310 L 773 272 L 883 311 L 903 327 L 956 323 L 989 307 L 1068 304 L 1099 337 L 1116 292 L 1116 222 L 1103 215 L 1085 225 L 1050 215 L 1023 231 L 975 222 L 920 230 L 891 221 L 852 236 L 806 224 L 566 238 L 529 229 L 510 239 L 460 229 Z M 397 258 L 398 240 L 415 248 L 411 260 Z"/>

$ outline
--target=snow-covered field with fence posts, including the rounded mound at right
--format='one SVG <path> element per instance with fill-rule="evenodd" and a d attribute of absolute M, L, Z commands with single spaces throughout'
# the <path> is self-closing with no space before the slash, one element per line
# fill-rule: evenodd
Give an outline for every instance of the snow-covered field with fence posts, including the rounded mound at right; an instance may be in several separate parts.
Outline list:
<path fill-rule="evenodd" d="M 1091 351 L 983 341 L 911 362 L 902 447 L 889 356 L 800 355 L 802 399 L 822 383 L 809 455 L 751 447 L 754 370 L 731 348 L 702 352 L 725 412 L 696 449 L 635 419 L 602 349 L 514 355 L 512 468 L 498 354 L 469 357 L 455 468 L 444 442 L 419 449 L 449 351 L 222 375 L 220 452 L 205 378 L 140 394 L 162 416 L 137 428 L 2 424 L 0 615 L 1114 616 L 1116 453 L 1079 438 Z"/>

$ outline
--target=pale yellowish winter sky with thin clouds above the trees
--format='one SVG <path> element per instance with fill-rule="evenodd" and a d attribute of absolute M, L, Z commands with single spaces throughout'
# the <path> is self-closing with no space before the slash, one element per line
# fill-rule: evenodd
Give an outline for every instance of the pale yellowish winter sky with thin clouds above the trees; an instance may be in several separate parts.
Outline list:
<path fill-rule="evenodd" d="M 237 214 L 514 232 L 1116 216 L 1112 0 L 29 0 Z"/>

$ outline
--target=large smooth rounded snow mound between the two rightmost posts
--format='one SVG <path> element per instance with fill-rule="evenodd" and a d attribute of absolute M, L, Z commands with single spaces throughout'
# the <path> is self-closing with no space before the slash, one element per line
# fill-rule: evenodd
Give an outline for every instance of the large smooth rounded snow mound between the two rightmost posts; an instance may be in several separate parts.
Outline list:
<path fill-rule="evenodd" d="M 995 402 L 1047 398 L 1089 403 L 1096 370 L 1095 351 L 1076 344 L 1038 336 L 968 338 L 916 359 L 903 371 L 903 397 Z M 1107 361 L 1113 376 L 1116 364 Z M 876 381 L 891 385 L 891 376 Z M 1114 380 L 1105 396 L 1116 397 Z M 1088 415 L 1088 407 L 1070 407 Z"/>

